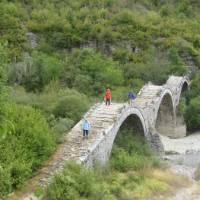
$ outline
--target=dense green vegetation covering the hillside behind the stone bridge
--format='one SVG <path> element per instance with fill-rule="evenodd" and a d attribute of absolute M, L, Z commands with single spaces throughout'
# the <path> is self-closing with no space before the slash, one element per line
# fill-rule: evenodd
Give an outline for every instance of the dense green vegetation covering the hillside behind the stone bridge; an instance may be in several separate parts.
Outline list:
<path fill-rule="evenodd" d="M 124 101 L 145 82 L 199 66 L 199 7 L 198 0 L 0 1 L 0 198 L 36 173 L 106 87 Z M 182 110 L 191 131 L 200 128 L 200 74 L 192 77 Z"/>

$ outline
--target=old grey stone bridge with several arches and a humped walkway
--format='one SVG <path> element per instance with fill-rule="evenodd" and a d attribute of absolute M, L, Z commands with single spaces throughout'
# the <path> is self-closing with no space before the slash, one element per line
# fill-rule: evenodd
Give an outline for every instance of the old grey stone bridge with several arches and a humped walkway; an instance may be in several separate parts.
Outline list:
<path fill-rule="evenodd" d="M 104 164 L 110 156 L 118 130 L 129 120 L 140 128 L 152 147 L 163 151 L 162 135 L 170 138 L 184 137 L 186 127 L 177 106 L 181 94 L 189 86 L 187 77 L 170 76 L 165 85 L 144 85 L 133 103 L 95 104 L 87 113 L 92 129 L 88 140 L 82 139 L 81 124 L 77 123 L 64 138 L 52 161 L 42 169 L 40 185 L 64 167 L 66 160 L 75 160 L 92 166 L 95 161 Z"/>

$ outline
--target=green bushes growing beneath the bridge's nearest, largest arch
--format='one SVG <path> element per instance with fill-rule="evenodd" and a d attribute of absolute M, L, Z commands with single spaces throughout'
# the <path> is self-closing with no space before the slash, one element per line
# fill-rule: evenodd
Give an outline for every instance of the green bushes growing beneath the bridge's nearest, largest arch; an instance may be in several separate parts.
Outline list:
<path fill-rule="evenodd" d="M 112 150 L 111 167 L 120 172 L 139 171 L 153 166 L 154 162 L 155 156 L 144 136 L 127 127 L 118 132 Z"/>

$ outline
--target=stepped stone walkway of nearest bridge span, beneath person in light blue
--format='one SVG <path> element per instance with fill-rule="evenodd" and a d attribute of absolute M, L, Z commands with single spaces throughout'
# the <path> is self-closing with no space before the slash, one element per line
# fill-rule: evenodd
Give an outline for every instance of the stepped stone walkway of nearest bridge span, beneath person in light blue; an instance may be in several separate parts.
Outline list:
<path fill-rule="evenodd" d="M 84 160 L 88 152 L 91 151 L 92 145 L 101 138 L 105 128 L 114 123 L 118 113 L 120 113 L 124 104 L 112 103 L 109 107 L 104 104 L 96 104 L 87 114 L 86 118 L 91 123 L 91 132 L 88 140 L 82 137 L 82 121 L 80 121 L 69 134 L 66 135 L 63 147 L 57 153 L 56 159 L 53 160 L 40 180 L 40 185 L 46 183 L 52 174 L 61 170 L 67 160 Z M 48 181 L 47 181 L 48 182 Z"/>

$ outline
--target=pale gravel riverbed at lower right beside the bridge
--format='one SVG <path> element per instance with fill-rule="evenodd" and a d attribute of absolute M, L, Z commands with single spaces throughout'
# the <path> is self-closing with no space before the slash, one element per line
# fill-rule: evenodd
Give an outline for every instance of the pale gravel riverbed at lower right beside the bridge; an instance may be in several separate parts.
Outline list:
<path fill-rule="evenodd" d="M 179 139 L 161 136 L 161 140 L 165 151 L 162 159 L 168 161 L 173 172 L 187 176 L 192 183 L 165 200 L 200 200 L 200 184 L 196 180 L 200 168 L 200 132 Z"/>

